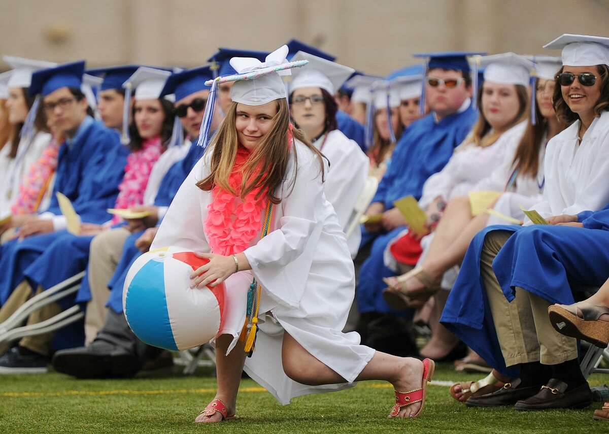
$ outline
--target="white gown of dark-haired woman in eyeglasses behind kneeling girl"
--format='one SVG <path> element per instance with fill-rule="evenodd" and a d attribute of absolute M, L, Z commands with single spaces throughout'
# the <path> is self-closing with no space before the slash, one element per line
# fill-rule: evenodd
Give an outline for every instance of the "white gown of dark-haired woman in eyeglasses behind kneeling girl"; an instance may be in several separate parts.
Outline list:
<path fill-rule="evenodd" d="M 347 223 L 353 213 L 357 198 L 364 190 L 370 160 L 355 141 L 347 138 L 339 130 L 329 132 L 327 138 L 319 138 L 314 145 L 317 149 L 323 146 L 320 151 L 330 162 L 323 191 L 326 199 L 336 211 L 340 227 L 347 229 Z M 357 255 L 361 240 L 362 233 L 357 226 L 347 240 L 351 257 Z"/>

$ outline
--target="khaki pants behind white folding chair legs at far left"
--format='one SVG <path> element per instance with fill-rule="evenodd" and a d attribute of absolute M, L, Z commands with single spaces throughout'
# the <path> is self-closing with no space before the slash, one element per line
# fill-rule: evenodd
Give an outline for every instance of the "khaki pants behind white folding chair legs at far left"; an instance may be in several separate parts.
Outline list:
<path fill-rule="evenodd" d="M 40 294 L 42 288 L 38 288 L 36 294 Z M 13 315 L 15 311 L 21 307 L 26 301 L 33 297 L 32 287 L 26 281 L 19 283 L 9 299 L 6 301 L 0 309 L 0 322 L 5 321 L 9 316 Z M 45 321 L 46 319 L 52 318 L 62 311 L 62 308 L 57 303 L 51 303 L 43 308 L 32 312 L 27 318 L 27 325 L 38 324 L 38 322 Z M 29 350 L 37 352 L 42 355 L 49 355 L 51 352 L 51 343 L 55 332 L 43 333 L 42 335 L 26 336 L 19 341 L 19 346 L 25 347 Z M 2 344 L 0 346 L 0 354 L 4 354 L 10 347 L 9 344 Z"/>

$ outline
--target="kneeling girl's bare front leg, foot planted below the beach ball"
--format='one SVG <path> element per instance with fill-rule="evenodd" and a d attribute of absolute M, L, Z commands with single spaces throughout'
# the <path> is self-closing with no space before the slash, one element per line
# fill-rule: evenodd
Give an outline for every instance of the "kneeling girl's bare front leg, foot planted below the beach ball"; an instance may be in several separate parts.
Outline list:
<path fill-rule="evenodd" d="M 218 391 L 214 399 L 219 399 L 227 406 L 228 415 L 234 414 L 237 405 L 237 393 L 241 383 L 241 372 L 245 363 L 244 344 L 238 342 L 231 350 L 230 354 L 225 355 L 228 345 L 233 341 L 233 336 L 222 335 L 216 340 L 216 372 Z M 216 411 L 213 416 L 203 416 L 199 414 L 195 422 L 220 422 L 222 414 Z"/>

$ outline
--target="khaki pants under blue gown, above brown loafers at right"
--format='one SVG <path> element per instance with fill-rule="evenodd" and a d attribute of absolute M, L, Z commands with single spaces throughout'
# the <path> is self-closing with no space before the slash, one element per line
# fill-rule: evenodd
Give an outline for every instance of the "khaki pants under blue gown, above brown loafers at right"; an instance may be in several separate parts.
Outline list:
<path fill-rule="evenodd" d="M 493 260 L 512 232 L 488 233 L 480 259 L 495 329 L 506 366 L 532 361 L 558 365 L 577 358 L 577 340 L 556 332 L 547 315 L 550 303 L 535 294 L 516 288 L 516 298 L 508 302 L 493 272 Z"/>

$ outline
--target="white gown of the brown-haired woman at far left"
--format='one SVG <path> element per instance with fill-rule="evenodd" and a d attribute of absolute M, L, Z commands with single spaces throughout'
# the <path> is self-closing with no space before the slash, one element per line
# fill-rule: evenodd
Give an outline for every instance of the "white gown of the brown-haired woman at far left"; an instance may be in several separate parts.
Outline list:
<path fill-rule="evenodd" d="M 4 176 L 0 183 L 0 216 L 10 213 L 10 207 L 19 197 L 19 186 L 29 174 L 30 166 L 40 158 L 50 142 L 51 134 L 39 131 L 29 146 L 24 139 L 19 142 L 15 158 L 8 158 L 10 144 L 2 148 L 0 159 L 4 161 L 0 166 Z"/>

